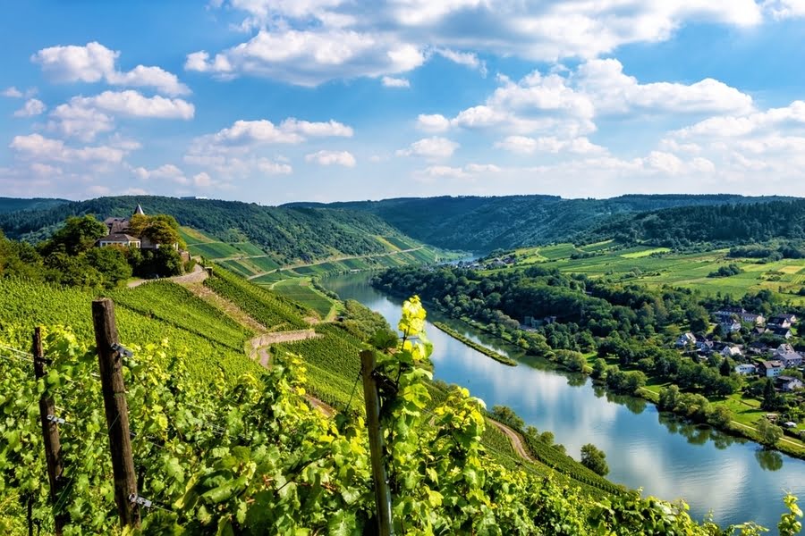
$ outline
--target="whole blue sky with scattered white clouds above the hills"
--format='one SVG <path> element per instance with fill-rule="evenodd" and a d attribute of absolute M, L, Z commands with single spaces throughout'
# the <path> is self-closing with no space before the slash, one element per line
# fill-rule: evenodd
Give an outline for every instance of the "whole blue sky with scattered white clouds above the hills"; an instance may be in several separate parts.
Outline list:
<path fill-rule="evenodd" d="M 4 197 L 805 197 L 805 0 L 0 9 Z"/>

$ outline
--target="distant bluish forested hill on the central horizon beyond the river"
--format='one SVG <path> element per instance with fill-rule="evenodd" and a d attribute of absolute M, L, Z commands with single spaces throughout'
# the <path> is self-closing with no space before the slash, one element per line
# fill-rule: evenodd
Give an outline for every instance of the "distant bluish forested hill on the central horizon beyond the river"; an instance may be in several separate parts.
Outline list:
<path fill-rule="evenodd" d="M 631 195 L 611 199 L 554 196 L 411 197 L 326 206 L 377 214 L 409 236 L 438 247 L 487 252 L 573 239 L 619 215 L 677 206 L 742 205 L 786 197 Z M 618 220 L 620 221 L 620 219 Z"/>

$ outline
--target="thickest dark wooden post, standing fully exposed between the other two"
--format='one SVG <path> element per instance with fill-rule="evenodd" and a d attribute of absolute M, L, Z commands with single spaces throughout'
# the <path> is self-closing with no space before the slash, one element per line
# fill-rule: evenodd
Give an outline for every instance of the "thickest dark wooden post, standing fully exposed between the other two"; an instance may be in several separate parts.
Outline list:
<path fill-rule="evenodd" d="M 123 384 L 123 352 L 117 337 L 114 302 L 107 298 L 92 302 L 92 322 L 95 324 L 97 362 L 109 426 L 109 448 L 112 451 L 114 473 L 114 502 L 122 526 L 140 527 L 140 505 L 137 504 L 137 475 L 131 456 L 129 408 Z"/>

